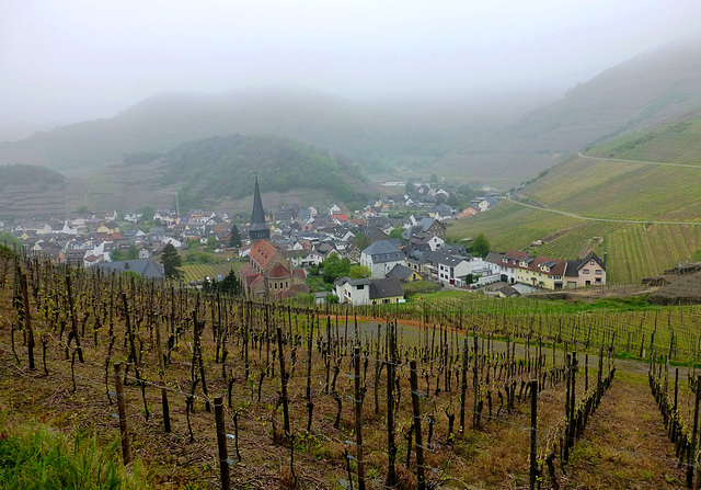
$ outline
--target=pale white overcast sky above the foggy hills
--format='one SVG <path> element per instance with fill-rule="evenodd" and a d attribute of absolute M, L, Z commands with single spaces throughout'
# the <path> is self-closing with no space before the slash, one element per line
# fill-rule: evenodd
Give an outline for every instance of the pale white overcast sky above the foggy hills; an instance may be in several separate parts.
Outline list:
<path fill-rule="evenodd" d="M 0 140 L 166 91 L 564 92 L 699 20 L 699 0 L 4 0 Z"/>

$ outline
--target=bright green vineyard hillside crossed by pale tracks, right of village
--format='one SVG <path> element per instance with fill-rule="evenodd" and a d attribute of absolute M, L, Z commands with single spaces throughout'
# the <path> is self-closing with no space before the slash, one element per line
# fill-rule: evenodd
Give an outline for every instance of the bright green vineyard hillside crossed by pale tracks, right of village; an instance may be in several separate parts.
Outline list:
<path fill-rule="evenodd" d="M 541 239 L 532 252 L 561 259 L 607 252 L 611 282 L 637 282 L 701 249 L 701 157 L 693 155 L 701 155 L 701 116 L 623 135 L 543 172 L 519 191 L 522 202 L 457 223 L 449 235 L 484 232 L 495 250 Z"/>

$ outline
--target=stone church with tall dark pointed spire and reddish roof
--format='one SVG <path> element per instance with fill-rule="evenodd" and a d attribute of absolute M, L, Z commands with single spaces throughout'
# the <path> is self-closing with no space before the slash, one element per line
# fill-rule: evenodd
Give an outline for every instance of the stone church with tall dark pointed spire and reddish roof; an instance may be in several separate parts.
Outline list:
<path fill-rule="evenodd" d="M 292 267 L 291 262 L 269 241 L 271 228 L 265 223 L 257 176 L 250 235 L 252 248 L 249 262 L 239 270 L 246 298 L 285 299 L 299 293 L 309 293 L 304 270 Z"/>

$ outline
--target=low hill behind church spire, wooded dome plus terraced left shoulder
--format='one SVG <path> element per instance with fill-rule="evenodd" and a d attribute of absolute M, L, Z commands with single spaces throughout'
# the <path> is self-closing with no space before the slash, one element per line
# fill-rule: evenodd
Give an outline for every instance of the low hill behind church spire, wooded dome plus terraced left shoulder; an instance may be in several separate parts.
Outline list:
<path fill-rule="evenodd" d="M 364 202 L 371 189 L 357 166 L 310 145 L 279 136 L 232 135 L 188 141 L 163 155 L 127 156 L 84 180 L 84 201 L 117 209 L 143 203 L 173 207 L 177 193 L 181 209 L 231 208 L 252 194 L 255 174 L 266 193 L 308 192 L 320 201 Z"/>

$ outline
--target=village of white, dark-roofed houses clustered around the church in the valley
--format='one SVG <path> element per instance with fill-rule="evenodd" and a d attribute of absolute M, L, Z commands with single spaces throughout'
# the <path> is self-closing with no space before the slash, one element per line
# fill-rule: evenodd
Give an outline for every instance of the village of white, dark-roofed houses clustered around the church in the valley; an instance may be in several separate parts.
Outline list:
<path fill-rule="evenodd" d="M 226 255 L 234 261 L 231 270 L 243 293 L 258 299 L 313 294 L 317 303 L 393 304 L 403 303 L 406 285 L 416 282 L 502 297 L 606 284 L 606 257 L 593 252 L 556 260 L 522 251 L 497 253 L 484 237 L 479 244 L 473 238 L 446 241 L 451 220 L 486 213 L 499 203 L 503 196 L 495 190 L 486 189 L 458 210 L 447 204 L 450 191 L 438 185 L 386 185 L 405 193 L 374 200 L 353 213 L 335 204 L 327 209 L 294 204 L 264 209 L 256 179 L 250 219 L 204 209 L 183 215 L 154 209 L 152 217 L 112 210 L 0 221 L 0 231 L 54 263 L 130 271 L 150 280 L 166 278 L 159 255 L 168 246 L 192 261 Z M 399 213 L 407 208 L 418 212 Z M 333 275 L 333 264 L 345 269 L 334 267 Z M 181 285 L 217 280 L 221 276 Z"/>

